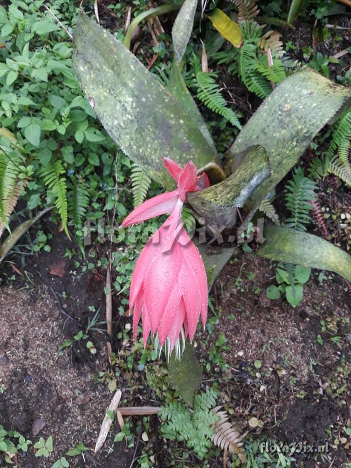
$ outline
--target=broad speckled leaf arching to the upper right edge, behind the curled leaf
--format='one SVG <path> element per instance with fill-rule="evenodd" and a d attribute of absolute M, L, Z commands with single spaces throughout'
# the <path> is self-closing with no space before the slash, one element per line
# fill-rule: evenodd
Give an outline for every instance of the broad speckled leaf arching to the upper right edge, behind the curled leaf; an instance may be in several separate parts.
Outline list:
<path fill-rule="evenodd" d="M 230 149 L 230 174 L 239 167 L 242 152 L 252 145 L 263 146 L 270 159 L 272 175 L 250 197 L 247 211 L 290 171 L 315 135 L 350 98 L 350 87 L 337 85 L 309 68 L 284 79 L 273 90 Z"/>

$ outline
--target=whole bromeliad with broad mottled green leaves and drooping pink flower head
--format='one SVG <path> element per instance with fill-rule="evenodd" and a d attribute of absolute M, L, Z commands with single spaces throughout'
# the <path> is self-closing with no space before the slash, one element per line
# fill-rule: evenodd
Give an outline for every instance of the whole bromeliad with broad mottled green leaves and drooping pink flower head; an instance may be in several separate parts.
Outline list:
<path fill-rule="evenodd" d="M 78 80 L 103 126 L 132 160 L 171 190 L 147 201 L 124 221 L 126 226 L 172 212 L 157 233 L 159 243 L 151 239 L 137 261 L 130 304 L 135 312 L 134 330 L 141 313 L 144 339 L 150 331 L 157 333 L 161 345 L 169 343 L 169 351 L 179 331 L 192 339 L 199 315 L 203 323 L 206 318 L 205 273 L 179 222 L 183 203 L 217 232 L 233 233 L 238 227 L 246 231 L 262 201 L 351 98 L 350 89 L 309 68 L 292 74 L 275 87 L 241 130 L 222 170 L 212 137 L 181 73 L 196 6 L 196 0 L 185 0 L 176 18 L 172 32 L 175 58 L 167 89 L 94 19 L 81 14 L 74 38 Z M 165 160 L 173 178 L 163 167 L 164 156 L 175 161 Z M 211 186 L 196 181 L 195 166 L 199 173 L 208 174 Z M 196 190 L 199 185 L 202 190 Z M 326 240 L 286 226 L 267 226 L 263 235 L 258 255 L 331 270 L 351 281 L 351 257 Z M 184 244 L 193 257 L 190 262 Z M 201 248 L 209 287 L 234 250 L 220 245 L 212 255 L 208 248 Z M 173 289 L 166 283 L 167 272 Z"/>

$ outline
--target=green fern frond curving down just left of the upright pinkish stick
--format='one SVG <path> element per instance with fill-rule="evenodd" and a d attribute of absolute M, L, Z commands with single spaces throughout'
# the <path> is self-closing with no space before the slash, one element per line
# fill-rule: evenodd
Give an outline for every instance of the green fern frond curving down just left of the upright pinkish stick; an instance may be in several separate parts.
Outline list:
<path fill-rule="evenodd" d="M 249 91 L 266 98 L 272 91 L 269 81 L 257 70 L 256 44 L 245 42 L 240 48 L 239 74 Z"/>

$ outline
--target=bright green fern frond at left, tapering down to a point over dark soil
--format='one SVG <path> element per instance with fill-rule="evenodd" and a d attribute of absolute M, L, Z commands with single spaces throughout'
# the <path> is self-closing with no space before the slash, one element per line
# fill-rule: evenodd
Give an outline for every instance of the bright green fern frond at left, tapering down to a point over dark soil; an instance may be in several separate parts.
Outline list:
<path fill-rule="evenodd" d="M 62 227 L 67 236 L 70 237 L 67 229 L 67 185 L 66 179 L 62 177 L 62 174 L 64 173 L 65 170 L 62 167 L 60 159 L 57 159 L 54 163 L 48 164 L 40 171 L 40 175 L 43 177 L 44 184 L 52 191 L 55 196 L 55 207 L 61 216 Z"/>

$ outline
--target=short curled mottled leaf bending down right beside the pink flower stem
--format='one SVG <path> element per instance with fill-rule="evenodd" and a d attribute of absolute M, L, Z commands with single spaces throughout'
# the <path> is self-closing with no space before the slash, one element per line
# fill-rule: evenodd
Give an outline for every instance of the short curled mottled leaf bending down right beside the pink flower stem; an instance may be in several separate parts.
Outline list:
<path fill-rule="evenodd" d="M 268 156 L 262 146 L 250 147 L 241 156 L 240 166 L 223 182 L 187 195 L 197 215 L 210 225 L 232 227 L 236 208 L 244 206 L 250 194 L 270 176 Z"/>

